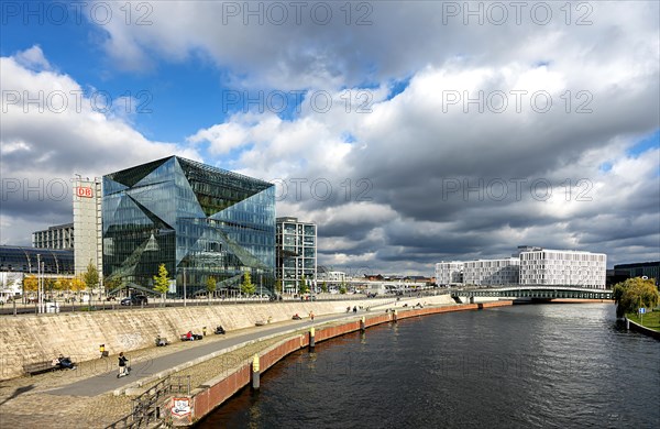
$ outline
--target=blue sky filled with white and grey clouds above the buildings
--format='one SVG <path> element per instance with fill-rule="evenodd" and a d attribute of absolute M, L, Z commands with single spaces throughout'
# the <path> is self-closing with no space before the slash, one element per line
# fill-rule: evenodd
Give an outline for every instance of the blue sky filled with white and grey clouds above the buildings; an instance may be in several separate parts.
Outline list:
<path fill-rule="evenodd" d="M 0 242 L 178 154 L 277 184 L 319 264 L 660 258 L 657 1 L 2 2 Z"/>

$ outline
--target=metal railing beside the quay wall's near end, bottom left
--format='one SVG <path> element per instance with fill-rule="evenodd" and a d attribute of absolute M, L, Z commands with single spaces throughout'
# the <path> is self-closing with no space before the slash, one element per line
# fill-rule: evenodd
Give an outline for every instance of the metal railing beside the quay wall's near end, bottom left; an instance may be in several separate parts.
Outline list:
<path fill-rule="evenodd" d="M 106 429 L 136 429 L 146 428 L 163 419 L 161 413 L 163 399 L 170 394 L 190 394 L 190 376 L 168 376 L 147 388 L 143 394 L 133 399 L 133 410 Z"/>

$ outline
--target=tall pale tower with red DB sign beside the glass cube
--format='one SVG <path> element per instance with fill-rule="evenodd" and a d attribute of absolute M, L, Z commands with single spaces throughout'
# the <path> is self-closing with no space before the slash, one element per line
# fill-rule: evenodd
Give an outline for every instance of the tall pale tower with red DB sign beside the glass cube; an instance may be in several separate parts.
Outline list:
<path fill-rule="evenodd" d="M 103 199 L 101 178 L 77 177 L 74 182 L 74 264 L 76 275 L 87 271 L 91 261 L 99 273 L 103 272 L 103 241 L 101 200 Z M 99 277 L 102 277 L 99 275 Z M 99 278 L 102 282 L 102 278 Z"/>

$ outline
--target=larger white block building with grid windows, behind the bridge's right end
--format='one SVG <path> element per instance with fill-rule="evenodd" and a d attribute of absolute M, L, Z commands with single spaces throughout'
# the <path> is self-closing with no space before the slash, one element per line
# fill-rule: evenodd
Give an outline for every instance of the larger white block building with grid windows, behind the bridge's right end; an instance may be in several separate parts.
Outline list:
<path fill-rule="evenodd" d="M 539 249 L 520 252 L 520 285 L 605 289 L 607 255 Z"/>

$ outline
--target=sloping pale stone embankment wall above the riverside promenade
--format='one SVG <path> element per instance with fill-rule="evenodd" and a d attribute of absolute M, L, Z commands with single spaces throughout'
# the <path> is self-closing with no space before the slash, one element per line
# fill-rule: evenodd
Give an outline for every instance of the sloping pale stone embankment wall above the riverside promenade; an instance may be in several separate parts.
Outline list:
<path fill-rule="evenodd" d="M 152 346 L 158 334 L 176 341 L 188 330 L 201 333 L 205 326 L 209 332 L 217 324 L 231 331 L 253 327 L 268 317 L 277 322 L 290 320 L 294 314 L 306 317 L 310 311 L 316 315 L 343 312 L 348 306 L 400 307 L 404 302 L 414 305 L 418 301 L 452 302 L 448 295 L 439 295 L 400 301 L 365 298 L 6 316 L 0 319 L 0 380 L 20 376 L 22 365 L 50 361 L 61 353 L 72 356 L 75 362 L 98 359 L 99 344 L 106 344 L 106 350 L 116 354 Z"/>

